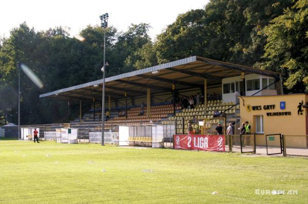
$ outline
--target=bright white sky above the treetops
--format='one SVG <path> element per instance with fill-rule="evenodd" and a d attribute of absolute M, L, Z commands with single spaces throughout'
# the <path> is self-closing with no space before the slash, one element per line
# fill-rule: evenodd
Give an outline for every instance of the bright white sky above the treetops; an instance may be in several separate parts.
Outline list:
<path fill-rule="evenodd" d="M 9 37 L 10 30 L 26 21 L 36 31 L 69 27 L 78 34 L 87 25 L 100 25 L 99 16 L 108 13 L 108 26 L 126 31 L 130 24 L 150 24 L 152 40 L 181 13 L 202 9 L 209 0 L 4 0 L 0 8 L 0 37 Z"/>

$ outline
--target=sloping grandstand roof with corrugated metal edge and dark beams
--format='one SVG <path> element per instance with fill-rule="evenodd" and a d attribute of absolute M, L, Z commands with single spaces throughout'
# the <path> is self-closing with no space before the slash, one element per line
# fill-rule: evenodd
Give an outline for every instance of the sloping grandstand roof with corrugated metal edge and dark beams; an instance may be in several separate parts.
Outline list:
<path fill-rule="evenodd" d="M 255 69 L 253 67 L 233 64 L 228 62 L 192 56 L 177 61 L 172 61 L 146 69 L 137 70 L 121 75 L 108 77 L 106 82 L 106 95 L 112 98 L 146 95 L 146 89 L 151 88 L 151 93 L 172 92 L 172 84 L 177 89 L 204 87 L 204 78 L 207 85 L 219 85 L 223 78 L 245 74 L 260 74 L 270 77 L 279 77 L 280 73 Z M 40 95 L 43 97 L 60 97 L 70 99 L 102 100 L 103 79 L 88 83 L 55 90 Z"/>

